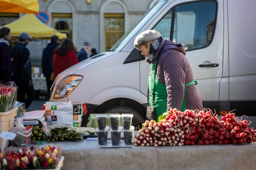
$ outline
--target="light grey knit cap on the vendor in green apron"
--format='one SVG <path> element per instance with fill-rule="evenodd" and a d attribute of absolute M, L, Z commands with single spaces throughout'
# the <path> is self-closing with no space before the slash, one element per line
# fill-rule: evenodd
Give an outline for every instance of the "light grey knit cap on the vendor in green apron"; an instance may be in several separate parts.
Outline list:
<path fill-rule="evenodd" d="M 157 32 L 156 30 L 144 31 L 144 32 L 140 33 L 134 40 L 134 47 L 138 50 L 141 50 L 141 49 L 139 49 L 139 45 L 141 43 L 143 43 L 145 41 L 155 40 L 155 39 L 158 39 L 159 37 L 161 37 L 161 34 L 159 32 Z"/>

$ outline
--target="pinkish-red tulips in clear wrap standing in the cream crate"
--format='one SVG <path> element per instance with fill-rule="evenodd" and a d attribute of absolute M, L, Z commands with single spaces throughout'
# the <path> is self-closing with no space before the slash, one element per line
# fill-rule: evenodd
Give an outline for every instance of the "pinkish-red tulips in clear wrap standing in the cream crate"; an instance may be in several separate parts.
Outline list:
<path fill-rule="evenodd" d="M 17 87 L 0 84 L 0 112 L 6 112 L 13 108 L 17 94 Z"/>

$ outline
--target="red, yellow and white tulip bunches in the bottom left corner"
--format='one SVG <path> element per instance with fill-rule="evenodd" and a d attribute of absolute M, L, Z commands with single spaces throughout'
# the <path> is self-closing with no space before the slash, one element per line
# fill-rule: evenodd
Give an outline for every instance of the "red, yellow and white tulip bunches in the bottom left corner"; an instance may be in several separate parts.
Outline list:
<path fill-rule="evenodd" d="M 19 149 L 18 152 L 6 149 L 4 153 L 0 153 L 0 169 L 54 169 L 60 156 L 60 147 L 38 149 L 32 146 L 30 149 Z"/>

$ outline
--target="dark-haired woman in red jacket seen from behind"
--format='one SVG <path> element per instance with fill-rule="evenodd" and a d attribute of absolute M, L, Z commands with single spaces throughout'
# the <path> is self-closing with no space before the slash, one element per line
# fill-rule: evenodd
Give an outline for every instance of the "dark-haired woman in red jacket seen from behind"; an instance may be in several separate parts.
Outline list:
<path fill-rule="evenodd" d="M 62 40 L 60 46 L 54 50 L 51 62 L 54 77 L 57 77 L 59 73 L 78 63 L 74 44 L 70 39 L 66 38 Z"/>

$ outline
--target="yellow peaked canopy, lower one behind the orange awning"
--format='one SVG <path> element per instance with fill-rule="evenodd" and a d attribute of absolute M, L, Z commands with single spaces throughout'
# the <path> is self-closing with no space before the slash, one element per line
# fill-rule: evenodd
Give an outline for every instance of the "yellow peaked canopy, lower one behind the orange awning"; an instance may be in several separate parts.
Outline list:
<path fill-rule="evenodd" d="M 10 28 L 12 37 L 19 37 L 20 33 L 27 32 L 29 36 L 36 39 L 50 38 L 52 35 L 58 36 L 59 39 L 67 38 L 65 33 L 44 25 L 34 14 L 25 14 L 20 19 L 2 27 Z"/>

